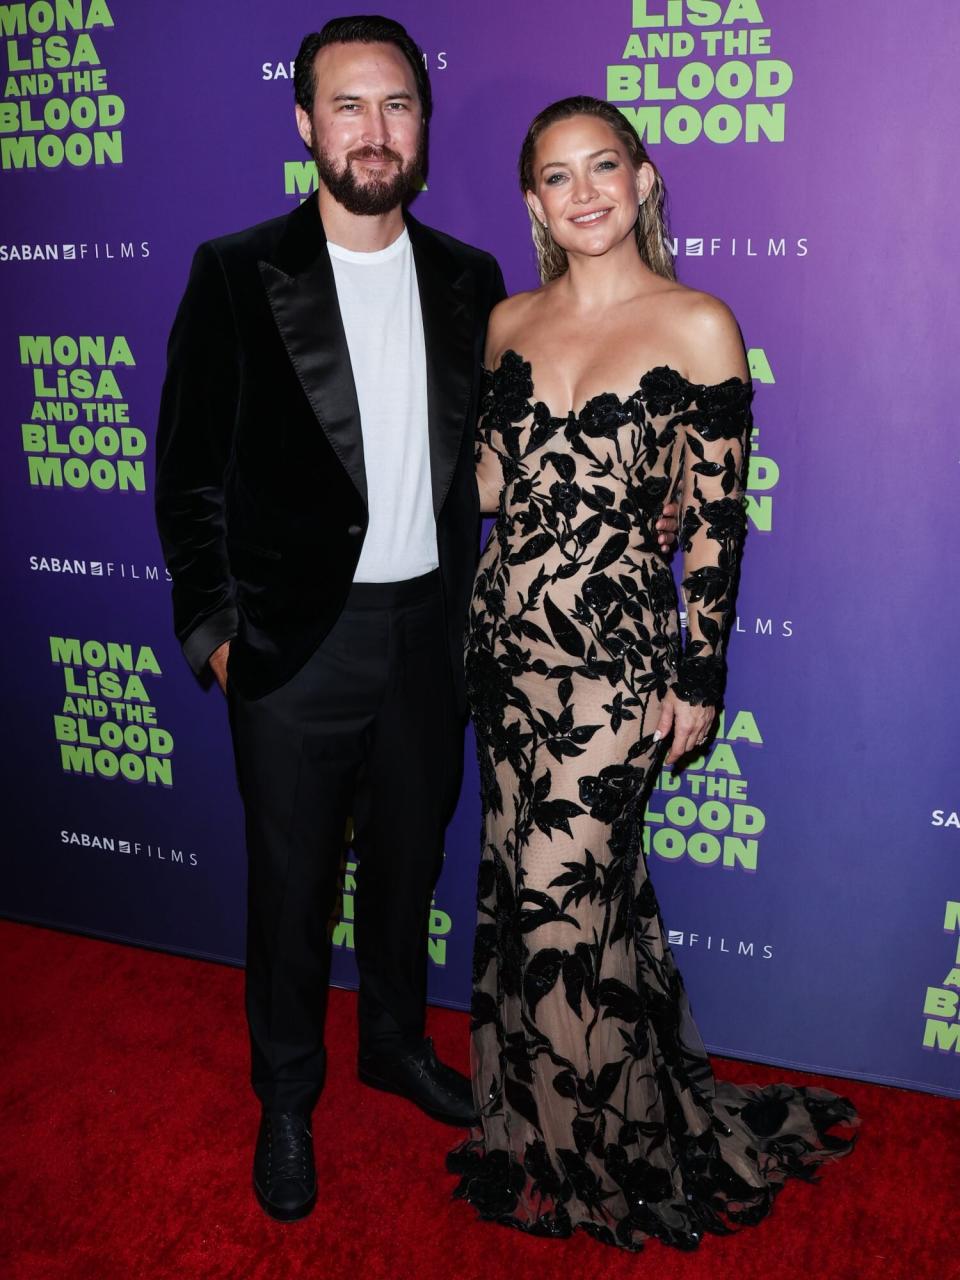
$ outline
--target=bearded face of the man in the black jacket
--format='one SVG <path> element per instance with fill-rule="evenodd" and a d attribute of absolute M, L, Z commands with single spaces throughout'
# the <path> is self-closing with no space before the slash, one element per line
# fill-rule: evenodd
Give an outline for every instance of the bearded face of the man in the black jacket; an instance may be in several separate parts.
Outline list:
<path fill-rule="evenodd" d="M 351 214 L 389 212 L 421 184 L 424 122 L 407 59 L 394 45 L 326 45 L 314 74 L 314 110 L 297 108 L 297 128 L 320 180 Z"/>

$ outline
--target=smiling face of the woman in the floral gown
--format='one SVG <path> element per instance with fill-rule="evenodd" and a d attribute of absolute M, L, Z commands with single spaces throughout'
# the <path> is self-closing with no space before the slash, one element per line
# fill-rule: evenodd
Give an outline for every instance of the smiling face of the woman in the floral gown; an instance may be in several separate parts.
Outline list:
<path fill-rule="evenodd" d="M 649 164 L 634 169 L 605 120 L 575 115 L 540 134 L 526 198 L 561 248 L 599 257 L 632 233 L 653 180 Z"/>

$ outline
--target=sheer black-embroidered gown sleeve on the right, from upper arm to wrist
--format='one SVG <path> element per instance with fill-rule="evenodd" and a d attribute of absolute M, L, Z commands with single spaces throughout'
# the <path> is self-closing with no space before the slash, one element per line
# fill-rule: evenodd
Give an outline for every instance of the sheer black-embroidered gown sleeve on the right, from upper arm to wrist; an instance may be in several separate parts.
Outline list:
<path fill-rule="evenodd" d="M 746 530 L 751 399 L 749 381 L 728 378 L 699 387 L 684 415 L 680 545 L 687 632 L 673 687 L 684 701 L 709 707 L 719 704 L 727 676 L 723 649 Z"/>

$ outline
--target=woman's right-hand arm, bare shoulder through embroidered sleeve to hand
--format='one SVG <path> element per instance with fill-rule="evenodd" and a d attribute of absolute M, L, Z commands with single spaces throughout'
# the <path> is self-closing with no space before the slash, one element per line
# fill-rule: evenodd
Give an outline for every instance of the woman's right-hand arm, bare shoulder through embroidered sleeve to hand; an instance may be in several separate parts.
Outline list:
<path fill-rule="evenodd" d="M 723 696 L 723 643 L 746 525 L 742 493 L 753 388 L 740 330 L 722 303 L 704 298 L 695 333 L 691 367 L 699 392 L 684 420 L 680 526 L 686 644 L 658 724 L 662 736 L 673 731 L 668 764 L 703 744 Z"/>

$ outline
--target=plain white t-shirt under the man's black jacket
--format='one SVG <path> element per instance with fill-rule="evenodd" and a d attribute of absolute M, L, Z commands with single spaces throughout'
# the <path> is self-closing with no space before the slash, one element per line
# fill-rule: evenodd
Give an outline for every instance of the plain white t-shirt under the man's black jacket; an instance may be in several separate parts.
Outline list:
<path fill-rule="evenodd" d="M 326 242 L 360 403 L 370 524 L 355 582 L 435 570 L 436 521 L 426 429 L 426 352 L 406 227 L 387 248 Z"/>

